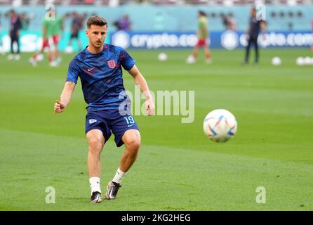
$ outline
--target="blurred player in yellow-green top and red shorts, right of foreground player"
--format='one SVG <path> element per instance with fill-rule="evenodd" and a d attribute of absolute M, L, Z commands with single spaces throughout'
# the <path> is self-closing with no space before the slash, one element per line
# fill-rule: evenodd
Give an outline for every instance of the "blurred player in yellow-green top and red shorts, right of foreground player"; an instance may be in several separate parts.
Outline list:
<path fill-rule="evenodd" d="M 208 49 L 209 39 L 208 39 L 208 19 L 206 18 L 206 13 L 204 11 L 198 12 L 198 42 L 194 46 L 194 51 L 191 56 L 187 58 L 187 63 L 195 63 L 197 60 L 199 48 L 204 49 L 204 55 L 206 57 L 206 63 L 212 63 L 210 49 Z"/>

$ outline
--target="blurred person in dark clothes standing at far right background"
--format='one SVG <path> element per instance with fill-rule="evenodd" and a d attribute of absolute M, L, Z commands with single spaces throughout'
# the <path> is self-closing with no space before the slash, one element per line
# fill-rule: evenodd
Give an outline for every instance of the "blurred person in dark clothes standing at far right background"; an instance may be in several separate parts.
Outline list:
<path fill-rule="evenodd" d="M 244 59 L 244 65 L 248 64 L 250 47 L 252 44 L 254 45 L 254 48 L 255 48 L 254 65 L 258 65 L 258 62 L 259 62 L 258 35 L 260 33 L 260 30 L 261 30 L 262 35 L 264 37 L 264 34 L 266 32 L 266 25 L 265 25 L 265 21 L 258 20 L 256 18 L 255 8 L 251 8 L 250 13 L 251 13 L 250 24 L 249 24 L 248 30 L 246 32 L 248 34 L 248 45 L 246 46 L 246 56 Z"/>

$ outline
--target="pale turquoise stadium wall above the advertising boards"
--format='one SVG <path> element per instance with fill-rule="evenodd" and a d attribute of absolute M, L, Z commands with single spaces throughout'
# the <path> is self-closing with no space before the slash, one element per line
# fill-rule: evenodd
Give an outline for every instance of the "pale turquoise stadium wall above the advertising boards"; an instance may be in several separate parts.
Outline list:
<path fill-rule="evenodd" d="M 251 6 L 151 6 L 151 5 L 124 5 L 119 7 L 95 7 L 95 6 L 58 6 L 58 15 L 77 11 L 98 14 L 107 19 L 109 28 L 114 31 L 114 21 L 121 16 L 128 14 L 133 23 L 133 31 L 166 31 L 185 32 L 197 29 L 197 11 L 200 9 L 208 13 L 209 27 L 211 31 L 225 30 L 220 18 L 221 13 L 232 13 L 237 20 L 237 30 L 244 31 L 248 25 L 249 9 Z M 3 30 L 8 30 L 8 18 L 4 15 L 12 7 L 0 6 L 1 24 Z M 32 16 L 29 30 L 40 30 L 41 20 L 45 15 L 44 6 L 20 6 L 15 8 L 19 13 L 26 12 Z M 268 28 L 271 31 L 290 30 L 290 23 L 293 23 L 292 30 L 310 30 L 313 19 L 313 6 L 266 6 Z M 215 14 L 213 17 L 212 14 Z M 272 13 L 276 13 L 275 17 Z M 279 14 L 284 13 L 281 17 Z M 288 16 L 293 13 L 293 16 Z M 301 13 L 301 15 L 298 15 Z M 69 29 L 70 20 L 65 24 Z"/>

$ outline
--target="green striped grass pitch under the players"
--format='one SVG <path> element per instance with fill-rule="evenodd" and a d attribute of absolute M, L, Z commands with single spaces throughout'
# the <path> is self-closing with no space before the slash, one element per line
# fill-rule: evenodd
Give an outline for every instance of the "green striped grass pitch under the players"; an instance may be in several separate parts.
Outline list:
<path fill-rule="evenodd" d="M 130 51 L 152 91 L 195 91 L 195 119 L 135 116 L 142 134 L 137 162 L 116 200 L 89 203 L 81 84 L 69 108 L 53 113 L 67 66 L 32 68 L 0 56 L 0 210 L 313 210 L 313 73 L 295 65 L 308 49 L 262 50 L 260 65 L 241 66 L 244 51 L 213 50 L 186 65 L 190 51 Z M 252 53 L 253 56 L 253 53 Z M 272 57 L 282 65 L 274 67 Z M 251 60 L 252 61 L 252 60 Z M 133 79 L 124 72 L 126 89 Z M 202 131 L 206 114 L 231 111 L 237 136 L 214 143 Z M 102 192 L 124 147 L 113 138 L 102 152 Z M 55 204 L 46 203 L 46 187 Z M 266 203 L 256 202 L 256 188 Z M 263 192 L 264 193 L 264 192 Z"/>

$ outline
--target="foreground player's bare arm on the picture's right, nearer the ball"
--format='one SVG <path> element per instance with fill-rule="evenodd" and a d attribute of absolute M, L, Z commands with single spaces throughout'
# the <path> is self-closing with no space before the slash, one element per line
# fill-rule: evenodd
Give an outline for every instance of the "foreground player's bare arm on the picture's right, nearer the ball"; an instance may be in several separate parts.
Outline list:
<path fill-rule="evenodd" d="M 149 86 L 145 80 L 145 77 L 142 76 L 141 72 L 138 70 L 136 65 L 131 68 L 131 70 L 128 70 L 129 74 L 133 76 L 135 80 L 135 84 L 140 86 L 140 91 L 145 95 L 146 97 L 146 110 L 148 115 L 154 115 L 154 101 L 152 98 L 152 95 L 149 91 Z"/>

